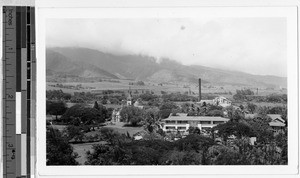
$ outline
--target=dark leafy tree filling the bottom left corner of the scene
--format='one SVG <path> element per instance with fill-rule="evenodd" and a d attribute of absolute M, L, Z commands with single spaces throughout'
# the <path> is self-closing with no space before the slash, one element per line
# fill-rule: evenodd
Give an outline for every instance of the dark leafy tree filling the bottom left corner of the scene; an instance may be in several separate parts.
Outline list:
<path fill-rule="evenodd" d="M 46 137 L 47 165 L 78 165 L 78 154 L 59 130 L 49 127 Z"/>

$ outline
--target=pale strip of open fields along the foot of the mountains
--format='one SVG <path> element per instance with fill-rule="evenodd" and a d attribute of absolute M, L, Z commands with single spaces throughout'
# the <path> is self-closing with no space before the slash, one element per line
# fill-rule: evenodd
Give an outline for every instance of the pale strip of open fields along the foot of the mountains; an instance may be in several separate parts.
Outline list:
<path fill-rule="evenodd" d="M 155 94 L 160 95 L 161 91 L 166 91 L 168 93 L 184 93 L 184 92 L 192 92 L 192 95 L 198 96 L 199 88 L 196 84 L 190 84 L 190 83 L 164 83 L 159 84 L 155 82 L 144 82 L 145 85 L 129 85 L 130 82 L 134 82 L 131 80 L 118 80 L 119 82 L 109 82 L 109 81 L 102 81 L 102 82 L 66 82 L 66 83 L 58 83 L 63 85 L 81 85 L 83 89 L 75 90 L 75 89 L 69 89 L 69 88 L 60 88 L 60 87 L 53 87 L 49 85 L 56 85 L 57 83 L 53 82 L 47 82 L 47 90 L 59 90 L 66 93 L 73 94 L 74 92 L 92 92 L 95 90 L 102 91 L 102 90 L 123 90 L 128 91 L 129 88 L 135 92 L 138 91 L 139 94 L 143 91 L 153 91 Z M 93 89 L 90 89 L 93 88 Z M 252 91 L 254 91 L 255 94 L 257 94 L 257 88 L 255 87 L 241 87 L 241 86 L 231 86 L 231 85 L 220 85 L 220 86 L 213 86 L 213 85 L 202 85 L 202 93 L 203 94 L 212 94 L 212 95 L 228 95 L 232 96 L 236 93 L 236 90 L 241 90 L 245 88 L 250 88 Z M 231 92 L 232 95 L 226 94 Z M 266 88 L 259 88 L 258 94 L 259 95 L 269 95 L 272 93 L 277 94 L 286 94 L 286 90 L 280 90 L 280 89 L 266 89 Z M 227 97 L 228 97 L 227 96 Z M 230 97 L 229 97 L 230 98 Z"/>

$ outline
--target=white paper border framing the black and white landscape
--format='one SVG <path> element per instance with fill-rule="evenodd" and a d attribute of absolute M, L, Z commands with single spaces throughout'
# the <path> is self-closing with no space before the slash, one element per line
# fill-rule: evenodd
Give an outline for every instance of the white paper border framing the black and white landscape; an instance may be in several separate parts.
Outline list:
<path fill-rule="evenodd" d="M 275 6 L 237 1 L 222 4 L 178 4 L 164 1 L 50 1 L 36 2 L 37 26 L 37 103 L 36 103 L 36 176 L 96 176 L 96 175 L 292 175 L 298 174 L 299 163 L 299 72 L 298 72 L 298 4 Z M 119 2 L 119 3 L 118 3 Z M 141 2 L 146 2 L 142 4 Z M 243 1 L 244 2 L 244 1 Z M 248 1 L 250 2 L 250 1 Z M 256 1 L 254 1 L 256 2 Z M 271 2 L 271 1 L 267 1 Z M 276 1 L 277 2 L 277 1 Z M 286 1 L 291 2 L 291 1 Z M 94 5 L 94 4 L 95 5 Z M 234 4 L 235 3 L 235 4 Z M 192 6 L 191 4 L 195 4 Z M 209 3 L 208 3 L 209 4 Z M 268 3 L 267 3 L 268 4 Z M 169 7 L 168 7 L 169 6 Z M 88 9 L 88 10 L 87 10 Z M 280 166 L 46 166 L 46 21 L 49 18 L 178 18 L 178 17 L 286 17 L 288 63 L 288 165 Z"/>

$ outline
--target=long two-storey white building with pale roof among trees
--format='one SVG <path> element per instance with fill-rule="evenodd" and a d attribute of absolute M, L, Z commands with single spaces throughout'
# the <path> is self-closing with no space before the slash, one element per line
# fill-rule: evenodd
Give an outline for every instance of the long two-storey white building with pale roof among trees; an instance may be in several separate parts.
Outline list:
<path fill-rule="evenodd" d="M 189 127 L 198 127 L 200 130 L 212 128 L 218 124 L 228 122 L 229 119 L 212 116 L 187 116 L 185 113 L 179 113 L 176 116 L 170 115 L 164 120 L 164 131 L 182 131 L 186 132 Z"/>

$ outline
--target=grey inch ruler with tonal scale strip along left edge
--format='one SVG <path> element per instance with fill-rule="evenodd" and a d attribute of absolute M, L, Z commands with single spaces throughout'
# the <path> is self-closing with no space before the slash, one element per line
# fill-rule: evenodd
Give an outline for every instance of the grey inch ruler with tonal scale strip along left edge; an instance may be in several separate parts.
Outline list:
<path fill-rule="evenodd" d="M 3 177 L 30 177 L 35 108 L 34 7 L 3 7 Z"/>

